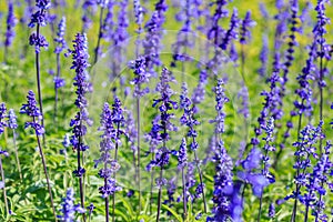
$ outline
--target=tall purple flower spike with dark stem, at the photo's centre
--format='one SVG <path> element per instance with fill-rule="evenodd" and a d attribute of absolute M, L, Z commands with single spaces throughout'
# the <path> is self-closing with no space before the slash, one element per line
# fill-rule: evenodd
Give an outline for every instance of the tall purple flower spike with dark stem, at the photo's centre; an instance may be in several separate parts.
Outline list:
<path fill-rule="evenodd" d="M 153 139 L 162 142 L 162 147 L 157 151 L 154 160 L 152 160 L 148 167 L 149 169 L 152 167 L 160 168 L 160 176 L 157 180 L 159 186 L 157 221 L 160 221 L 162 186 L 167 184 L 167 179 L 163 178 L 163 169 L 169 164 L 171 153 L 167 148 L 167 142 L 170 140 L 169 131 L 176 131 L 176 128 L 171 123 L 171 119 L 174 115 L 171 111 L 178 109 L 178 103 L 171 99 L 174 94 L 170 87 L 171 82 L 174 82 L 174 77 L 164 67 L 160 77 L 160 82 L 157 85 L 157 91 L 161 97 L 160 99 L 154 99 L 152 105 L 153 108 L 158 107 L 160 111 L 160 122 L 154 122 L 153 124 L 153 129 L 155 129 Z"/>

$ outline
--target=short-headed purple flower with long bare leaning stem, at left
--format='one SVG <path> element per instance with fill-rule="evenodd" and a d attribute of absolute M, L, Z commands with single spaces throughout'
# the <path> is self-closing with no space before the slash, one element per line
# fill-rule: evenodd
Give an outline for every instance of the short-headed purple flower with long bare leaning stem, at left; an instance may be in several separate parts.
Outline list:
<path fill-rule="evenodd" d="M 50 195 L 50 200 L 51 200 L 51 208 L 52 208 L 52 211 L 53 211 L 54 220 L 57 221 L 57 214 L 56 214 L 56 208 L 54 208 L 54 203 L 53 203 L 52 190 L 51 190 L 50 179 L 49 179 L 48 169 L 47 169 L 47 161 L 46 161 L 44 153 L 43 153 L 43 150 L 42 150 L 42 145 L 41 145 L 41 142 L 40 142 L 40 137 L 42 134 L 44 134 L 46 131 L 44 131 L 44 128 L 39 123 L 39 120 L 41 118 L 41 111 L 37 107 L 37 101 L 36 101 L 36 98 L 34 98 L 34 93 L 31 90 L 28 92 L 27 103 L 21 107 L 20 113 L 27 114 L 27 115 L 32 118 L 31 122 L 26 122 L 24 128 L 26 129 L 27 128 L 32 128 L 34 130 L 39 153 L 40 153 L 40 157 L 42 159 L 44 175 L 47 178 L 49 195 Z"/>

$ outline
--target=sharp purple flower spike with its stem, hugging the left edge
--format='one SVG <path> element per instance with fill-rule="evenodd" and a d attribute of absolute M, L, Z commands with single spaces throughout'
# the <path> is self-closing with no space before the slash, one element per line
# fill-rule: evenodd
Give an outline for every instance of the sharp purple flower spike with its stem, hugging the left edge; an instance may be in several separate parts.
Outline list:
<path fill-rule="evenodd" d="M 6 121 L 7 117 L 7 108 L 4 103 L 0 104 L 0 135 L 4 132 L 4 128 L 8 127 L 8 122 Z M 0 149 L 0 171 L 1 171 L 1 179 L 2 179 L 2 190 L 3 190 L 3 202 L 6 206 L 6 212 L 9 214 L 9 206 L 8 206 L 8 201 L 7 201 L 7 191 L 6 191 L 6 178 L 4 178 L 4 171 L 2 167 L 2 158 L 8 157 L 8 152 L 6 150 Z"/>

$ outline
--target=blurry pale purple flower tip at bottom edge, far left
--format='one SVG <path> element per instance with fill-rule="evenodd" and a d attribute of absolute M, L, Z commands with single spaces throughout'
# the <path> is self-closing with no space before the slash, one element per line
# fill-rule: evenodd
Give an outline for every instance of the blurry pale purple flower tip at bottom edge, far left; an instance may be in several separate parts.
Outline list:
<path fill-rule="evenodd" d="M 65 198 L 62 199 L 61 215 L 57 215 L 60 221 L 73 222 L 75 221 L 75 213 L 84 213 L 85 210 L 80 206 L 80 204 L 74 204 L 74 191 L 69 188 L 65 193 Z"/>

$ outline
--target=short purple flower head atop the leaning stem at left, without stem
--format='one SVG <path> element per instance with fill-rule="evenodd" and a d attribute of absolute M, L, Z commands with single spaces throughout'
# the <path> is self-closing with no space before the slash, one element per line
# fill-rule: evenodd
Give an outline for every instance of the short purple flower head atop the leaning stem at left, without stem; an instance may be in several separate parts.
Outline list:
<path fill-rule="evenodd" d="M 39 123 L 39 119 L 41 118 L 41 112 L 37 105 L 37 101 L 34 98 L 34 93 L 32 90 L 29 90 L 27 95 L 27 104 L 23 104 L 20 109 L 20 113 L 27 114 L 32 118 L 32 121 L 28 121 L 24 124 L 24 128 L 32 128 L 36 131 L 37 135 L 44 134 L 44 128 Z"/>

